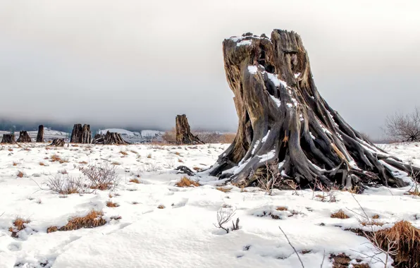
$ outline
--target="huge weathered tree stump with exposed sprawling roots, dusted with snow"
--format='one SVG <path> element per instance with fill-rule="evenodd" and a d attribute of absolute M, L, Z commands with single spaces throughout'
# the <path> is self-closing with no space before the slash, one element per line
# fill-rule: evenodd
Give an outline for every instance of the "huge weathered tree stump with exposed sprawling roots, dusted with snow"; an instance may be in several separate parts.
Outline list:
<path fill-rule="evenodd" d="M 225 39 L 223 57 L 239 126 L 211 175 L 235 185 L 279 177 L 303 186 L 407 185 L 410 166 L 373 145 L 319 95 L 295 32 Z"/>

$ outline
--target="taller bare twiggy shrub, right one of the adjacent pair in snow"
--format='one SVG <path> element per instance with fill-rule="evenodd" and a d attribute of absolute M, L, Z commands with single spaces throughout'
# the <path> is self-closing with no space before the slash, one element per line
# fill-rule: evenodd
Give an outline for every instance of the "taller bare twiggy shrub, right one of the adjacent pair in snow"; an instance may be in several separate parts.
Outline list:
<path fill-rule="evenodd" d="M 100 162 L 89 166 L 79 166 L 79 171 L 89 180 L 89 187 L 98 190 L 112 190 L 120 182 L 118 168 L 109 162 Z"/>

